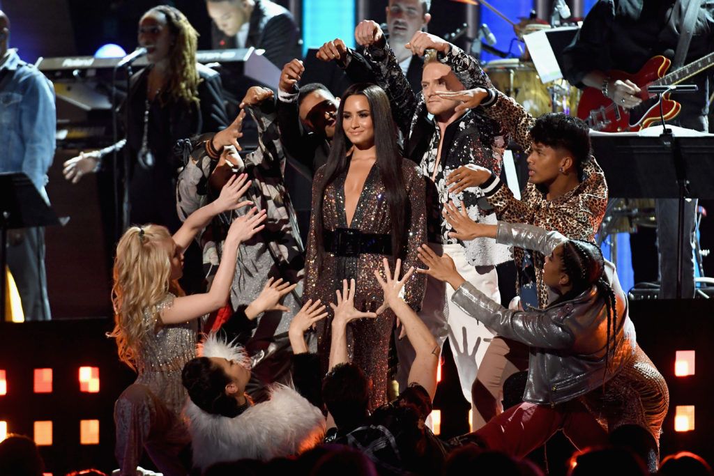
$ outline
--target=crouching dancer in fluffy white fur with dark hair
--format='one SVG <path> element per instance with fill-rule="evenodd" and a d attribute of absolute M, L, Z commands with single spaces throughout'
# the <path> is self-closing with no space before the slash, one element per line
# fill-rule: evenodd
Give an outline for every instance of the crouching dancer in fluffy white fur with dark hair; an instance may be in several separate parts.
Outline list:
<path fill-rule="evenodd" d="M 314 322 L 323 310 L 306 303 L 295 319 Z M 201 347 L 182 375 L 193 465 L 201 472 L 218 462 L 297 455 L 322 442 L 325 417 L 296 390 L 276 383 L 269 400 L 253 404 L 246 395 L 251 361 L 241 345 L 211 334 Z"/>

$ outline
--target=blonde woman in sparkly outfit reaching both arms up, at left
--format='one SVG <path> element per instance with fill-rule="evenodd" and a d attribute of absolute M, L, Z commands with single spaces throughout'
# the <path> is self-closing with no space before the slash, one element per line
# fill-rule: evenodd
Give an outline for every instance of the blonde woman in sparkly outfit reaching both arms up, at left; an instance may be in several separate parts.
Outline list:
<path fill-rule="evenodd" d="M 144 448 L 166 476 L 186 475 L 190 469 L 178 457 L 188 445 L 180 417 L 186 401 L 181 370 L 196 355 L 196 318 L 226 303 L 238 245 L 263 228 L 265 211 L 253 208 L 233 222 L 208 293 L 185 296 L 178 287 L 183 250 L 213 216 L 248 205 L 238 203 L 248 186 L 244 174 L 231 179 L 221 196 L 194 212 L 174 236 L 164 226 L 145 225 L 132 226 L 119 240 L 111 337 L 116 338 L 119 358 L 139 373 L 114 406 L 115 455 L 122 475 L 136 475 Z"/>

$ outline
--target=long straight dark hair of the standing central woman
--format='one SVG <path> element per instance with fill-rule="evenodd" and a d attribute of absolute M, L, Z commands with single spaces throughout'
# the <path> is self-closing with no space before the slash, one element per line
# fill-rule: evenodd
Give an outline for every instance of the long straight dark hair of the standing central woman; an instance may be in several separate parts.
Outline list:
<path fill-rule="evenodd" d="M 374 127 L 374 144 L 377 148 L 377 163 L 379 177 L 384 185 L 384 191 L 389 206 L 389 218 L 392 224 L 392 255 L 394 258 L 402 256 L 403 244 L 406 234 L 406 216 L 409 205 L 406 199 L 406 187 L 402 173 L 402 156 L 397 145 L 397 128 L 392 118 L 389 107 L 389 98 L 382 88 L 374 84 L 353 84 L 342 96 L 340 107 L 337 109 L 337 123 L 335 136 L 332 139 L 332 148 L 327 164 L 323 170 L 323 178 L 318 183 L 315 192 L 318 197 L 315 214 L 315 233 L 318 250 L 323 249 L 322 238 L 322 197 L 326 188 L 341 173 L 349 167 L 347 151 L 352 147 L 351 141 L 345 136 L 342 127 L 344 105 L 350 96 L 365 96 L 369 103 L 372 124 Z M 318 253 L 321 260 L 322 253 Z M 321 263 L 321 261 L 320 261 Z"/>

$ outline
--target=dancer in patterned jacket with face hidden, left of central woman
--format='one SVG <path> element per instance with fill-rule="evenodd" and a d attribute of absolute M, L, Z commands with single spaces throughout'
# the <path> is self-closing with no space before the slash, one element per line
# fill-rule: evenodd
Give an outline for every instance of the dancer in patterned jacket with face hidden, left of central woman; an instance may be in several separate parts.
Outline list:
<path fill-rule="evenodd" d="M 248 173 L 251 188 L 243 200 L 252 201 L 259 209 L 267 211 L 265 228 L 252 240 L 241 243 L 240 259 L 231 287 L 230 310 L 218 315 L 221 320 L 230 316 L 254 300 L 269 278 L 282 278 L 288 283 L 298 283 L 283 300 L 283 310 L 263 314 L 246 350 L 253 358 L 253 376 L 256 388 L 250 388 L 251 396 L 260 400 L 266 396 L 263 384 L 284 381 L 290 370 L 291 360 L 287 331 L 291 318 L 301 308 L 302 278 L 305 268 L 303 243 L 298 233 L 295 211 L 285 188 L 285 153 L 280 143 L 276 123 L 273 92 L 253 86 L 248 89 L 241 108 L 253 116 L 258 124 L 258 148 L 244 156 L 238 155 L 237 138 L 241 136 L 243 116 L 241 112 L 231 126 L 212 134 L 179 141 L 178 152 L 183 154 L 186 166 L 178 176 L 176 207 L 178 217 L 185 220 L 196 208 L 218 197 L 218 194 L 233 173 Z M 224 213 L 216 217 L 210 226 L 199 234 L 203 248 L 203 267 L 209 286 L 218 270 L 221 247 L 234 218 L 246 213 L 247 208 Z"/>

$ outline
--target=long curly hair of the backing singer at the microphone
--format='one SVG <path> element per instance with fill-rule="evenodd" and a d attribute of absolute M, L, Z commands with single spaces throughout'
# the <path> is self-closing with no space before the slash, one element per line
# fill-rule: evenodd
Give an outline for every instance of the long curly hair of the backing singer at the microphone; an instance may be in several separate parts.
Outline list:
<path fill-rule="evenodd" d="M 142 16 L 159 12 L 166 16 L 174 43 L 169 52 L 169 70 L 172 72 L 166 91 L 169 97 L 187 104 L 198 104 L 198 83 L 201 77 L 196 69 L 196 49 L 198 49 L 198 31 L 191 26 L 186 15 L 169 5 L 154 6 Z M 162 95 L 163 96 L 163 95 Z"/>

